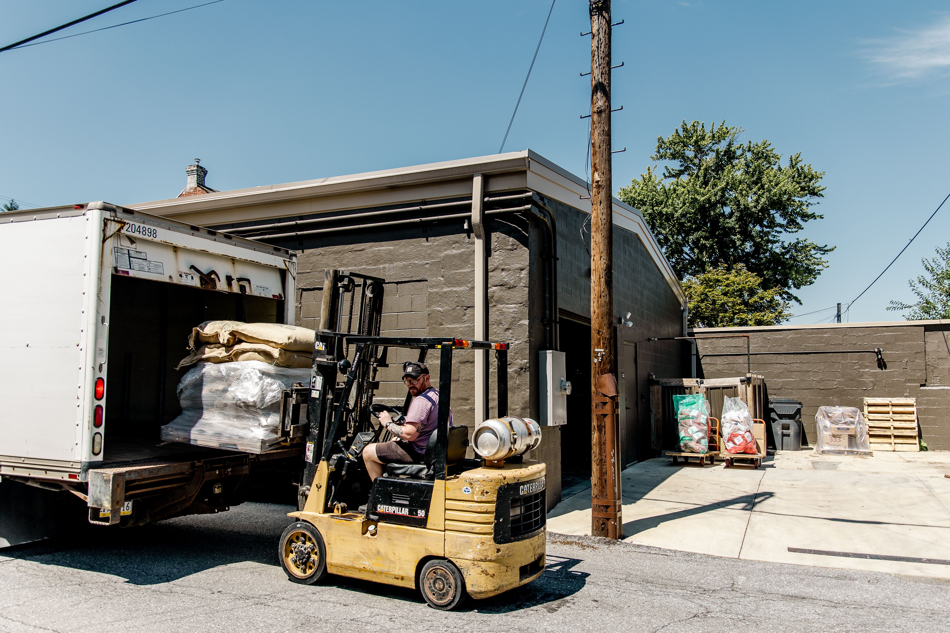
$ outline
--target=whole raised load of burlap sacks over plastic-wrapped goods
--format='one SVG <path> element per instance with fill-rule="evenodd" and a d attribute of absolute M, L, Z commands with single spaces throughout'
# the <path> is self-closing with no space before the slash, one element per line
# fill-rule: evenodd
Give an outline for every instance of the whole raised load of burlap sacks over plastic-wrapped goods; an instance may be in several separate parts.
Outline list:
<path fill-rule="evenodd" d="M 188 338 L 194 365 L 178 386 L 181 415 L 161 438 L 263 453 L 278 438 L 281 392 L 310 382 L 314 331 L 282 324 L 207 321 Z"/>

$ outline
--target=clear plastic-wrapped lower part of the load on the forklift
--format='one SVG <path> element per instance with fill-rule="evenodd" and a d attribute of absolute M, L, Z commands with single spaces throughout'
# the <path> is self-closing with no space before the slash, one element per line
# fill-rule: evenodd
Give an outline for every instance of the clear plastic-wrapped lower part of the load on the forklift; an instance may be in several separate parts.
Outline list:
<path fill-rule="evenodd" d="M 294 382 L 310 382 L 310 369 L 198 363 L 181 377 L 181 415 L 161 427 L 161 439 L 263 453 L 278 441 L 281 392 Z"/>

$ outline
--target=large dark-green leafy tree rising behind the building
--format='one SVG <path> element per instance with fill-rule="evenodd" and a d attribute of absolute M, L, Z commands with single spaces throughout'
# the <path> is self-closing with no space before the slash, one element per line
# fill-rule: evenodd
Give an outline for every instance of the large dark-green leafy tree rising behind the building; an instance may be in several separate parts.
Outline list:
<path fill-rule="evenodd" d="M 801 303 L 792 290 L 814 283 L 834 247 L 786 236 L 822 217 L 811 207 L 823 197 L 825 173 L 801 153 L 783 165 L 768 140 L 739 142 L 742 131 L 684 120 L 656 139 L 650 158 L 667 163 L 662 176 L 648 167 L 618 197 L 643 214 L 680 279 L 744 264 L 765 288 Z"/>

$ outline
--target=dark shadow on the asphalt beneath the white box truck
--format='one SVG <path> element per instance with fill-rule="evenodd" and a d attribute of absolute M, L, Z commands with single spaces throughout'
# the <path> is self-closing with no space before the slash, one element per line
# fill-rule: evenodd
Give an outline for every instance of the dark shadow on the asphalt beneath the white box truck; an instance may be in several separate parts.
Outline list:
<path fill-rule="evenodd" d="M 245 526 L 227 520 L 238 518 L 235 511 L 233 517 L 227 517 L 227 513 L 200 515 L 128 529 L 86 524 L 55 538 L 3 549 L 2 554 L 42 565 L 108 574 L 140 586 L 169 583 L 235 563 L 278 566 L 277 536 L 288 525 L 286 512 L 293 508 L 255 505 L 273 516 L 260 517 Z"/>

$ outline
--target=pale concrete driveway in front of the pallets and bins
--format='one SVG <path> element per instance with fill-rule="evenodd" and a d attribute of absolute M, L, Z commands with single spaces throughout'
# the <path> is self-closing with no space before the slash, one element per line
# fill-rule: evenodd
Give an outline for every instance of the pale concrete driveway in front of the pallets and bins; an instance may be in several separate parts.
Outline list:
<path fill-rule="evenodd" d="M 950 579 L 946 474 L 950 452 L 788 452 L 758 470 L 651 459 L 622 474 L 623 533 L 658 548 Z M 590 524 L 589 487 L 548 513 L 549 531 Z"/>

